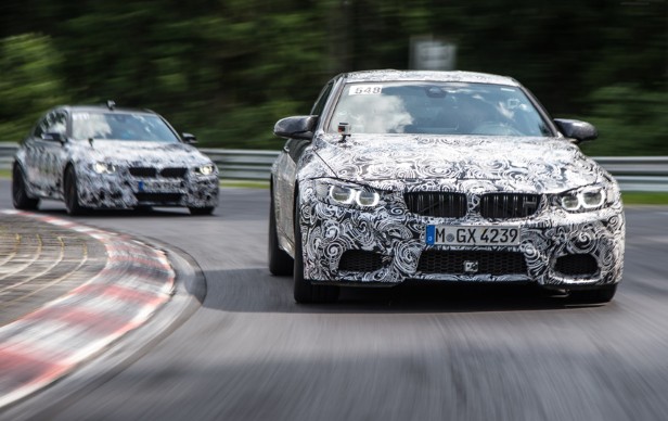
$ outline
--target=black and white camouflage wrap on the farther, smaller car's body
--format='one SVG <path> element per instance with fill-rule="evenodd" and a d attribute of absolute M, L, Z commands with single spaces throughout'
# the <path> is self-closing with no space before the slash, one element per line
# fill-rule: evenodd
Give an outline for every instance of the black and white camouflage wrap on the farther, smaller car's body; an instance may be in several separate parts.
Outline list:
<path fill-rule="evenodd" d="M 197 174 L 196 168 L 213 165 L 213 162 L 192 145 L 120 140 L 95 140 L 92 143 L 70 140 L 62 146 L 53 143 L 29 154 L 21 149 L 16 154 L 16 162 L 27 173 L 26 189 L 30 196 L 63 200 L 65 167 L 73 165 L 79 204 L 85 207 L 134 208 L 140 205 L 136 195 L 140 190 L 180 194 L 176 206 L 202 208 L 218 205 L 218 171 L 216 169 L 207 176 Z M 113 165 L 116 171 L 98 174 L 93 170 L 97 162 Z M 158 176 L 132 176 L 131 167 L 155 168 Z M 164 168 L 188 170 L 182 178 L 163 178 L 159 171 Z"/>

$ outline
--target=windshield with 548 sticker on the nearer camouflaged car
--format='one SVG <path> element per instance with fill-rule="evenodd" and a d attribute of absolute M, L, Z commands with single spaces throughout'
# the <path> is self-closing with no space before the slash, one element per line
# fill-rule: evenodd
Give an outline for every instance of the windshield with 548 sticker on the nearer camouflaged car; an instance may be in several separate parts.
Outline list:
<path fill-rule="evenodd" d="M 349 84 L 329 132 L 552 136 L 522 89 L 462 82 Z"/>

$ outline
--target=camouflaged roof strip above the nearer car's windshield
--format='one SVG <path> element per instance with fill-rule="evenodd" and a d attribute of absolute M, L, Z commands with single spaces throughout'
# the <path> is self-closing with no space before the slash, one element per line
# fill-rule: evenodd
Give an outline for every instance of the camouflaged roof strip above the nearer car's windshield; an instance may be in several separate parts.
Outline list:
<path fill-rule="evenodd" d="M 512 77 L 477 72 L 437 72 L 437 71 L 362 71 L 342 74 L 348 82 L 363 81 L 460 81 L 519 86 Z"/>

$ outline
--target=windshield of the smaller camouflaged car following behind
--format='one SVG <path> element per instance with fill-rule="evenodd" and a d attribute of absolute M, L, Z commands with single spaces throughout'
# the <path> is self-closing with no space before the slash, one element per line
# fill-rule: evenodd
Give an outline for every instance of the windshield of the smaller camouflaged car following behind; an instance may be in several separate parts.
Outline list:
<path fill-rule="evenodd" d="M 174 131 L 156 115 L 119 112 L 74 113 L 72 137 L 95 140 L 179 141 Z"/>

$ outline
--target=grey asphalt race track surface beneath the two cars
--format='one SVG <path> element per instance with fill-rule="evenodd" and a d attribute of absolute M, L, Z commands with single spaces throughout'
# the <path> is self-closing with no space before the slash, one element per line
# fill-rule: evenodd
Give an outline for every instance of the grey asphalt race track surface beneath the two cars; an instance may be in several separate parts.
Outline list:
<path fill-rule="evenodd" d="M 9 189 L 2 180 L 0 208 L 11 207 Z M 337 304 L 301 306 L 292 279 L 267 270 L 268 203 L 267 190 L 223 189 L 210 217 L 158 209 L 77 218 L 188 253 L 206 297 L 115 375 L 62 401 L 37 395 L 26 417 L 668 419 L 668 207 L 627 208 L 625 279 L 605 306 L 567 306 L 526 288 L 448 285 L 346 290 Z M 41 212 L 67 218 L 55 202 Z M 53 385 L 52 395 L 66 387 Z"/>

